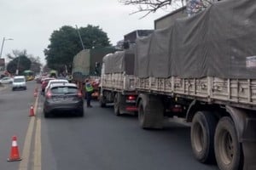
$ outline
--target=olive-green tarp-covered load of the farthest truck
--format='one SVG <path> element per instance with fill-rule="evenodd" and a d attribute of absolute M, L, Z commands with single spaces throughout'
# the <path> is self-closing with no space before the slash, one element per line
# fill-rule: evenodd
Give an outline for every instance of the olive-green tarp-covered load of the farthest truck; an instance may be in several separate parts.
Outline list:
<path fill-rule="evenodd" d="M 109 53 L 115 52 L 114 48 L 84 49 L 73 58 L 73 79 L 84 82 L 86 77 L 100 76 L 102 58 Z"/>

